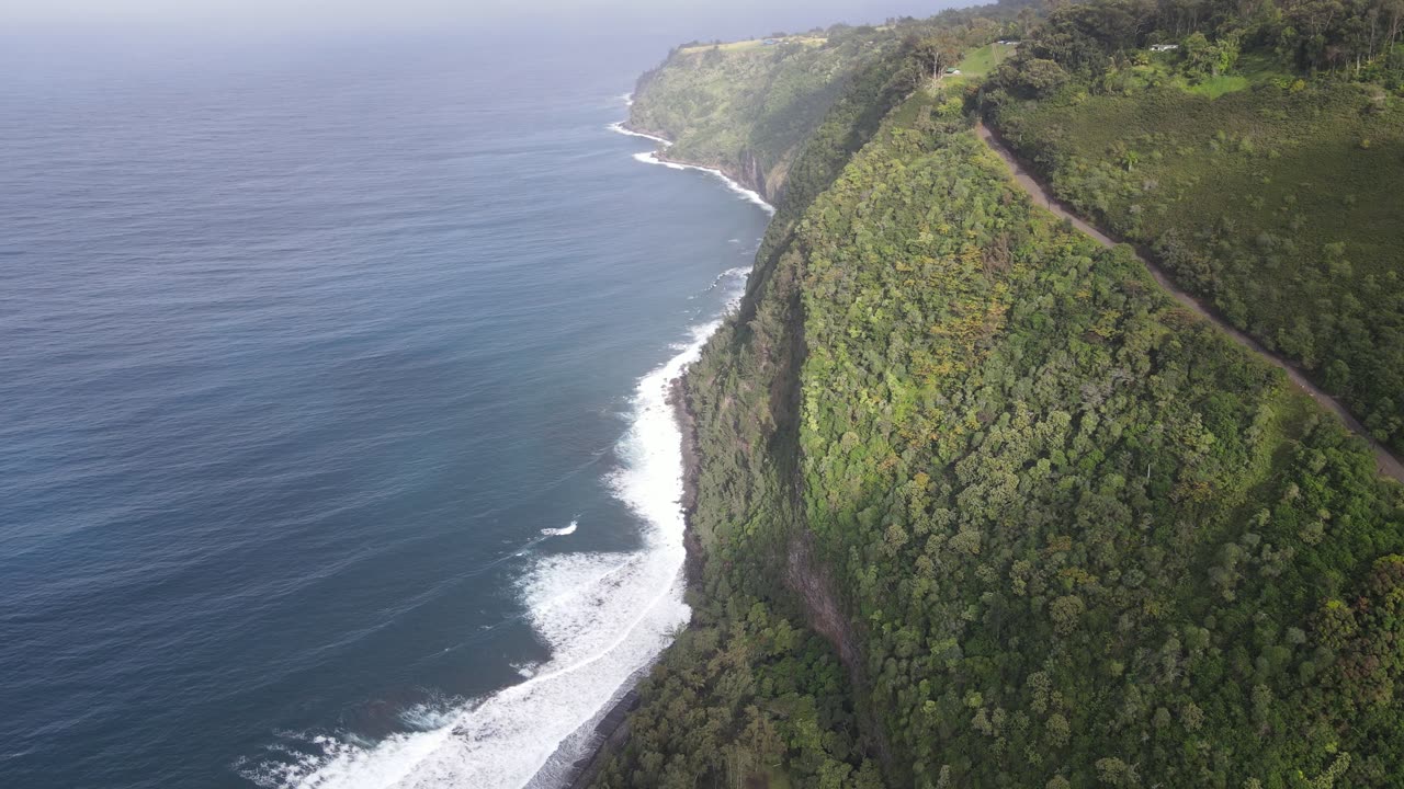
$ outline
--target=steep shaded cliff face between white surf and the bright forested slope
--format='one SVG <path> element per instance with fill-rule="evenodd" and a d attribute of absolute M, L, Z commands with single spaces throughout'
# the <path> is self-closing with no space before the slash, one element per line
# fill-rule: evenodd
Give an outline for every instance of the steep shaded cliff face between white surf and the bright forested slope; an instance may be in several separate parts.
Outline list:
<path fill-rule="evenodd" d="M 803 258 L 792 246 L 807 206 L 904 95 L 908 66 L 897 52 L 866 63 L 813 129 L 737 313 L 688 373 L 694 623 L 640 688 L 633 734 L 600 786 L 882 785 L 858 637 L 799 517 Z M 779 764 L 790 744 L 800 761 Z"/>

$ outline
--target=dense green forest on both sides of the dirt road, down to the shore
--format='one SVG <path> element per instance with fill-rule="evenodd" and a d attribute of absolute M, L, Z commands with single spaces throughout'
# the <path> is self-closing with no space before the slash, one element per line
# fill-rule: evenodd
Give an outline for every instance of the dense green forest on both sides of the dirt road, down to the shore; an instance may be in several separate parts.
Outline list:
<path fill-rule="evenodd" d="M 972 132 L 1397 445 L 1398 14 L 1099 0 L 863 32 L 887 38 L 788 132 L 747 296 L 689 371 L 695 618 L 595 783 L 1404 783 L 1401 487 Z"/>

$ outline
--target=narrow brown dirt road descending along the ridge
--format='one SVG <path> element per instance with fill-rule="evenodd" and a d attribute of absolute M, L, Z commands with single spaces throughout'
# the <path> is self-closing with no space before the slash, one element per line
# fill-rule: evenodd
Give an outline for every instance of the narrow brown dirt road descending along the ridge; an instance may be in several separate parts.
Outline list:
<path fill-rule="evenodd" d="M 1049 194 L 1043 183 L 1039 181 L 1032 173 L 1025 170 L 1024 166 L 1019 163 L 1019 159 L 1014 156 L 1014 153 L 1004 145 L 1004 140 L 1001 140 L 998 135 L 991 132 L 984 124 L 976 124 L 976 132 L 980 135 L 980 139 L 984 140 L 984 143 L 990 146 L 991 150 L 998 153 L 1000 159 L 1002 159 L 1005 164 L 1008 164 L 1009 170 L 1014 174 L 1014 180 L 1019 184 L 1019 187 L 1024 188 L 1025 192 L 1029 194 L 1031 198 L 1033 198 L 1035 205 L 1046 208 L 1054 215 L 1067 219 L 1068 222 L 1073 223 L 1074 227 L 1097 239 L 1097 241 L 1104 247 L 1115 247 L 1118 244 L 1118 241 L 1113 240 L 1111 236 L 1101 232 L 1095 226 L 1084 222 L 1080 216 L 1068 211 L 1061 202 L 1054 199 L 1053 195 Z M 1380 469 L 1380 473 L 1404 483 L 1404 463 L 1401 463 L 1398 458 L 1391 455 L 1390 451 L 1384 448 L 1384 445 L 1372 438 L 1369 431 L 1365 430 L 1365 425 L 1362 425 L 1360 421 L 1356 420 L 1351 414 L 1351 411 L 1348 411 L 1345 406 L 1341 404 L 1339 400 L 1327 394 L 1320 387 L 1317 387 L 1317 385 L 1311 383 L 1300 368 L 1297 368 L 1287 359 L 1279 357 L 1278 354 L 1273 354 L 1272 351 L 1264 348 L 1257 340 L 1248 337 L 1247 334 L 1234 329 L 1226 320 L 1219 317 L 1217 313 L 1206 307 L 1199 299 L 1181 291 L 1178 286 L 1175 286 L 1175 284 L 1170 279 L 1170 277 L 1165 275 L 1165 272 L 1158 265 L 1155 265 L 1154 263 L 1151 263 L 1139 253 L 1136 257 L 1146 265 L 1151 277 L 1155 278 L 1155 282 L 1160 282 L 1160 286 L 1164 288 L 1171 296 L 1174 296 L 1175 300 L 1179 302 L 1184 307 L 1192 310 L 1195 314 L 1217 326 L 1226 334 L 1233 337 L 1240 345 L 1248 348 L 1254 354 L 1258 354 L 1264 359 L 1268 359 L 1273 365 L 1282 368 L 1282 371 L 1287 373 L 1287 378 L 1292 379 L 1292 383 L 1297 385 L 1299 389 L 1310 394 L 1311 399 L 1316 400 L 1320 406 L 1330 409 L 1331 411 L 1335 413 L 1335 416 L 1341 417 L 1341 421 L 1344 421 L 1345 425 L 1351 428 L 1352 432 L 1363 438 L 1370 445 L 1370 449 L 1375 453 L 1375 465 Z"/>

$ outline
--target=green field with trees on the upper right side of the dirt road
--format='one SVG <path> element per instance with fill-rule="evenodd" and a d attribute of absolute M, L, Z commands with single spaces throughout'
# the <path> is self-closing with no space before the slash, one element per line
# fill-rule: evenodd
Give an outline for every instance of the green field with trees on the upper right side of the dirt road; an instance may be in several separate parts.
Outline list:
<path fill-rule="evenodd" d="M 1061 199 L 1153 250 L 1404 449 L 1397 6 L 1337 15 L 1320 53 L 1300 39 L 1327 24 L 1314 4 L 1244 18 L 1210 3 L 1216 14 L 1189 35 L 1157 7 L 1073 6 L 1031 37 L 984 104 Z M 1118 24 L 1139 32 L 1108 35 Z M 1136 49 L 1167 35 L 1182 37 L 1179 52 Z"/>

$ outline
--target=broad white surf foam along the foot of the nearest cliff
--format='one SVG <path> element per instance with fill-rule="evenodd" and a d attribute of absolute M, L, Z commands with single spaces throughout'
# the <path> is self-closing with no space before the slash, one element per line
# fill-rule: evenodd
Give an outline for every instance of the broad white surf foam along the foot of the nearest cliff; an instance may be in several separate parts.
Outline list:
<path fill-rule="evenodd" d="M 691 616 L 681 585 L 681 438 L 664 397 L 667 383 L 696 357 L 699 345 L 701 338 L 643 379 L 637 418 L 621 446 L 628 465 L 609 480 L 649 524 L 644 549 L 546 556 L 519 584 L 528 619 L 550 644 L 550 658 L 531 668 L 529 678 L 461 708 L 437 729 L 395 734 L 373 745 L 348 737 L 316 738 L 312 755 L 285 762 L 281 771 L 264 765 L 261 783 L 288 789 L 519 788 L 562 741 L 607 708 Z"/>

